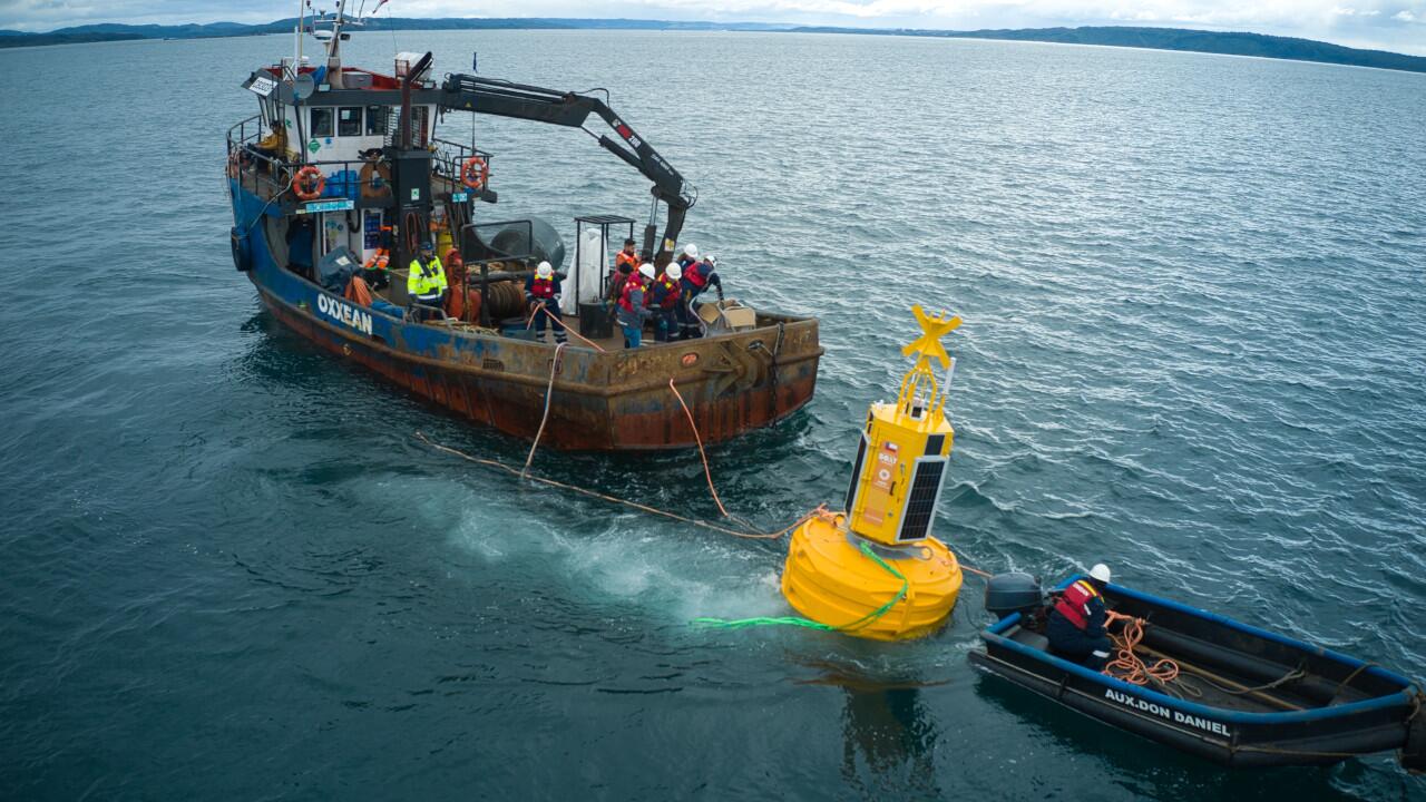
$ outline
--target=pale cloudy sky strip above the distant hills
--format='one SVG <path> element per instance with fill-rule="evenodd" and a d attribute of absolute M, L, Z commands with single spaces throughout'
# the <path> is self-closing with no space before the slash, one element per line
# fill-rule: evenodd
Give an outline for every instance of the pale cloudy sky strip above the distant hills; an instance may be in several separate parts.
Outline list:
<path fill-rule="evenodd" d="M 391 0 L 386 9 L 405 17 L 632 17 L 955 30 L 1144 24 L 1301 36 L 1426 56 L 1426 0 Z M 295 11 L 297 0 L 0 0 L 0 29 L 265 23 Z"/>

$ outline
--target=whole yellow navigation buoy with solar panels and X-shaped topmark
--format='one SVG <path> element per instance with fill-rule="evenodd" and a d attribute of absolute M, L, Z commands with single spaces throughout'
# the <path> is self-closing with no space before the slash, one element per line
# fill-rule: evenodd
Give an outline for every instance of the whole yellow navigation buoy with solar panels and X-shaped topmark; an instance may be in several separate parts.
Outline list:
<path fill-rule="evenodd" d="M 941 337 L 960 317 L 914 307 L 923 334 L 901 350 L 915 364 L 896 404 L 871 404 L 851 467 L 847 512 L 807 519 L 793 532 L 783 595 L 797 612 L 858 638 L 903 641 L 938 629 L 961 589 L 961 567 L 931 535 L 955 431 L 945 392 L 955 360 Z M 945 370 L 937 384 L 935 360 Z"/>

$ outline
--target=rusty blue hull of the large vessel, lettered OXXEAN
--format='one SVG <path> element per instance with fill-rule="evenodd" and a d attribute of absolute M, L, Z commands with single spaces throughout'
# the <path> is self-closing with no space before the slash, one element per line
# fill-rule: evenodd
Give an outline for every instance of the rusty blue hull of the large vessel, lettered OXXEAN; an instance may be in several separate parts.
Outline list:
<path fill-rule="evenodd" d="M 408 323 L 329 293 L 278 263 L 278 204 L 230 180 L 234 258 L 285 325 L 344 360 L 472 422 L 533 438 L 555 347 Z M 672 378 L 704 442 L 770 425 L 811 400 L 821 357 L 817 321 L 760 314 L 759 327 L 679 344 L 596 351 L 579 342 L 555 365 L 542 444 L 562 450 L 659 450 L 694 444 Z"/>

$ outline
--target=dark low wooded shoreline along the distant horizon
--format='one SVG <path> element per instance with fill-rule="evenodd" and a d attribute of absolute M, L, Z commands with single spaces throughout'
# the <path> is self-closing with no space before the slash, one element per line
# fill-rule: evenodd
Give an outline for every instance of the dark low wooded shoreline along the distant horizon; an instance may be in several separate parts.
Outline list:
<path fill-rule="evenodd" d="M 181 26 L 127 26 L 103 23 L 53 30 L 48 33 L 0 31 L 0 49 L 93 41 L 134 41 L 161 39 L 221 39 L 291 33 L 297 20 L 267 24 L 210 23 Z M 1362 50 L 1310 39 L 1266 36 L 1259 33 L 1218 33 L 1191 29 L 1155 27 L 1054 27 L 998 30 L 934 29 L 857 29 L 834 26 L 789 26 L 767 23 L 674 23 L 663 20 L 580 20 L 563 17 L 378 17 L 366 30 L 684 30 L 684 31 L 759 31 L 759 33 L 838 33 L 856 36 L 911 36 L 927 39 L 984 39 L 998 41 L 1044 41 L 1051 44 L 1097 44 L 1179 53 L 1215 53 L 1219 56 L 1255 56 L 1289 61 L 1313 61 L 1350 67 L 1376 67 L 1426 73 L 1426 56 L 1406 56 L 1386 50 Z"/>

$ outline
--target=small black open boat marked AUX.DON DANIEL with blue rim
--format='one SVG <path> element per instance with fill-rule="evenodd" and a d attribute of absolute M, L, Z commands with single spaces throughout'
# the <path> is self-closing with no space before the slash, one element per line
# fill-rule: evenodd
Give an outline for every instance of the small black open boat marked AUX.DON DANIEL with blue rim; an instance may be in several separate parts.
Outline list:
<path fill-rule="evenodd" d="M 1054 652 L 1045 598 L 1028 574 L 990 579 L 985 609 L 1000 621 L 970 661 L 1104 724 L 1226 765 L 1329 765 L 1399 749 L 1403 766 L 1426 771 L 1426 695 L 1410 679 L 1134 588 L 1107 585 L 1104 598 L 1124 616 L 1109 626 L 1115 659 L 1104 672 Z"/>

